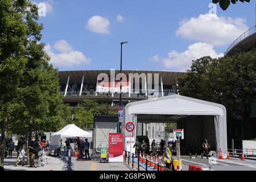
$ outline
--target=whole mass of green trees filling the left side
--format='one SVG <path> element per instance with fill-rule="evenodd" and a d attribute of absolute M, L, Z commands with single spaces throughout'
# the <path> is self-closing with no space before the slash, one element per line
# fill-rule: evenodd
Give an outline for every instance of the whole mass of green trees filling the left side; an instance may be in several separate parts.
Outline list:
<path fill-rule="evenodd" d="M 38 18 L 38 7 L 30 1 L 0 1 L 1 166 L 7 131 L 55 130 L 63 114 L 58 72 L 40 43 Z"/>

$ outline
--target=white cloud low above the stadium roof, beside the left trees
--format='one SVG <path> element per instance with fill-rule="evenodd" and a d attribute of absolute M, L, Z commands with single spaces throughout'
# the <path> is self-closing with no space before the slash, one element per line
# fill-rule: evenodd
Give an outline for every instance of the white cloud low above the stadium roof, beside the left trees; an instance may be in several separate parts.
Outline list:
<path fill-rule="evenodd" d="M 75 65 L 90 64 L 91 59 L 82 52 L 76 51 L 65 40 L 60 40 L 53 45 L 53 48 L 60 53 L 54 53 L 51 45 L 44 47 L 51 57 L 50 63 L 56 67 L 73 67 Z"/>

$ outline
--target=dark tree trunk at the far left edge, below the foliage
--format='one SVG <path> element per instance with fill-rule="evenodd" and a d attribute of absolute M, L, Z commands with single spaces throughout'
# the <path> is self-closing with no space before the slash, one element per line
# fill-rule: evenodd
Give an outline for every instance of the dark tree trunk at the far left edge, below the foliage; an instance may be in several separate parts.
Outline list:
<path fill-rule="evenodd" d="M 1 144 L 0 144 L 0 166 L 1 167 L 3 167 L 3 162 L 5 160 L 7 121 L 8 119 L 5 118 L 1 122 L 1 128 L 2 128 L 2 132 L 1 132 L 2 136 L 1 136 Z"/>

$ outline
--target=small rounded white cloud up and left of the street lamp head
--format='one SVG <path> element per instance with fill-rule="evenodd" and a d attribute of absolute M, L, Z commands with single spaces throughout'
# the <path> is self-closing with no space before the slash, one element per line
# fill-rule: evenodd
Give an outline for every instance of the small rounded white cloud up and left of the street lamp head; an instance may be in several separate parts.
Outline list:
<path fill-rule="evenodd" d="M 92 16 L 86 25 L 86 28 L 90 31 L 98 34 L 109 34 L 109 20 L 102 16 Z"/>

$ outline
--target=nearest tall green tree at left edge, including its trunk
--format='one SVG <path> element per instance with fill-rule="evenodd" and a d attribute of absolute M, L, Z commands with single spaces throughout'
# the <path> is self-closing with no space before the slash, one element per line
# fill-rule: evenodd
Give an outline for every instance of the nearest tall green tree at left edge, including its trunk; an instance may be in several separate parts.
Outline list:
<path fill-rule="evenodd" d="M 27 63 L 24 55 L 28 32 L 35 32 L 26 22 L 36 20 L 36 15 L 36 7 L 27 1 L 0 1 L 0 166 L 3 166 L 7 127 L 19 106 L 18 85 Z"/>

